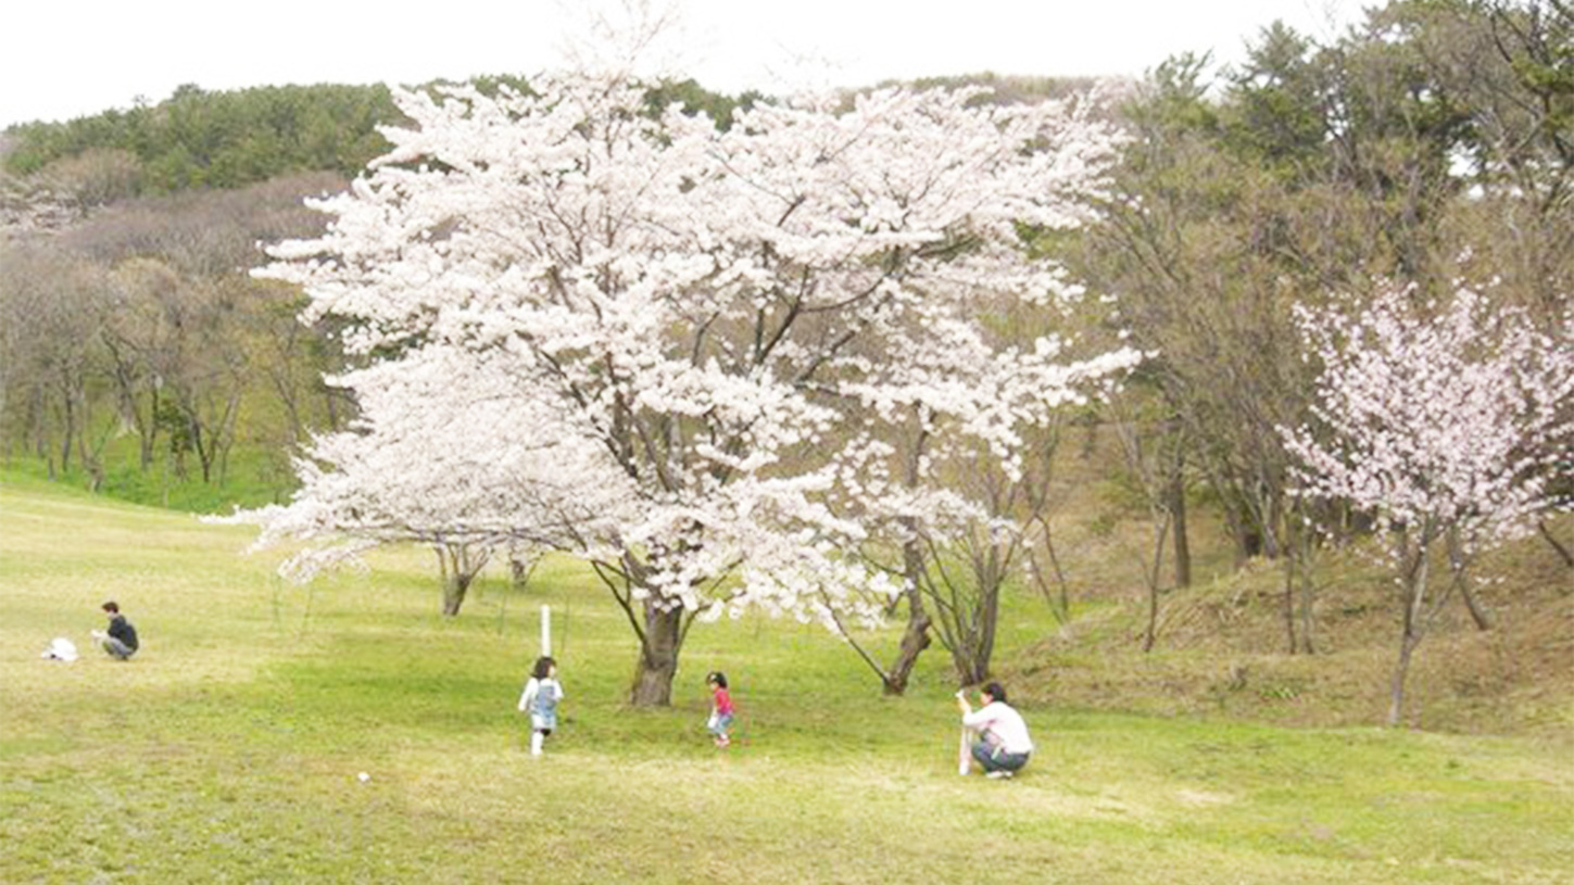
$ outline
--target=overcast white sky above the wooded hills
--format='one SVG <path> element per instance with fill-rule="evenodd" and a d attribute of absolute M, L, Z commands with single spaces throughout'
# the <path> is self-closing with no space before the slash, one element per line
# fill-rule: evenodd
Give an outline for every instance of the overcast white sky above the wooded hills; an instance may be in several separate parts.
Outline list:
<path fill-rule="evenodd" d="M 589 0 L 27 0 L 0 22 L 0 128 L 157 102 L 181 83 L 420 83 L 530 74 Z M 597 0 L 606 3 L 606 0 Z M 1240 58 L 1273 19 L 1332 38 L 1360 0 L 660 0 L 702 85 L 1141 74 L 1180 50 Z M 1366 0 L 1376 3 L 1377 0 Z M 615 6 L 617 2 L 614 0 Z"/>

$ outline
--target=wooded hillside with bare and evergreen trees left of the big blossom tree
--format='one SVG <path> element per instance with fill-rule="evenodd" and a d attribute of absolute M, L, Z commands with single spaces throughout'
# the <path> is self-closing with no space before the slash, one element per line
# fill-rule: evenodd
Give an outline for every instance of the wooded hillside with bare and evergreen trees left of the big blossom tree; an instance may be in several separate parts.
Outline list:
<path fill-rule="evenodd" d="M 726 121 L 754 98 L 683 80 L 650 107 Z M 343 189 L 400 120 L 386 85 L 190 85 L 0 135 L 3 458 L 200 510 L 286 494 L 296 447 L 354 406 L 323 383 L 343 368 L 331 329 L 247 271 L 260 244 L 320 230 L 304 200 Z"/>

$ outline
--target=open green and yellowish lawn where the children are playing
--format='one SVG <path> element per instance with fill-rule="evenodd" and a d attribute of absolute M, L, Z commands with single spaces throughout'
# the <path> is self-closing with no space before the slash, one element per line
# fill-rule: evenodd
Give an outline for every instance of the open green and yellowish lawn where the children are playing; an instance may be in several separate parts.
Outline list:
<path fill-rule="evenodd" d="M 0 485 L 0 882 L 1574 874 L 1574 764 L 1544 734 L 1121 713 L 1020 685 L 1037 757 L 1015 781 L 959 778 L 938 649 L 885 699 L 817 627 L 699 625 L 674 707 L 636 712 L 631 633 L 568 562 L 524 591 L 490 578 L 444 620 L 430 554 L 297 587 L 275 556 L 242 556 L 249 539 Z M 39 658 L 52 636 L 85 646 L 110 597 L 145 638 L 134 661 Z M 532 759 L 513 704 L 540 605 L 568 698 Z M 1033 598 L 1007 617 L 1001 660 L 1056 631 Z M 729 751 L 704 732 L 713 668 L 741 712 Z"/>

